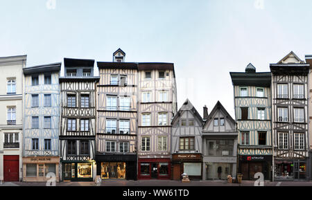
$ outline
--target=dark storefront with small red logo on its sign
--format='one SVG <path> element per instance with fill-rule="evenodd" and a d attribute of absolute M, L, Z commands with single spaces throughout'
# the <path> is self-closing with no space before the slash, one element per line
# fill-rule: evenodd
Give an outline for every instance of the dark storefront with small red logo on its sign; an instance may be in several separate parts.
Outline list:
<path fill-rule="evenodd" d="M 243 180 L 255 180 L 254 174 L 261 172 L 265 180 L 271 180 L 272 156 L 239 156 L 239 173 Z"/>

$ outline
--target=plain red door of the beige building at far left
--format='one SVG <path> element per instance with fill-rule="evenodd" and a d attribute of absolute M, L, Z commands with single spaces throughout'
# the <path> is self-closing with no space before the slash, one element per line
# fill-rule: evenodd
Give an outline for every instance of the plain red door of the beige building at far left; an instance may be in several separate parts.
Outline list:
<path fill-rule="evenodd" d="M 3 156 L 4 181 L 19 181 L 19 156 Z"/>

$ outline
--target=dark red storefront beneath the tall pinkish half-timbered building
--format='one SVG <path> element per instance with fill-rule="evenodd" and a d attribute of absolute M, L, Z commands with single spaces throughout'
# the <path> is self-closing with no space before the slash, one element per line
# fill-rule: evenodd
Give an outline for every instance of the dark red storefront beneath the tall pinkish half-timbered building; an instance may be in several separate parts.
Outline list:
<path fill-rule="evenodd" d="M 138 179 L 165 179 L 171 177 L 170 158 L 141 158 L 138 161 Z"/>

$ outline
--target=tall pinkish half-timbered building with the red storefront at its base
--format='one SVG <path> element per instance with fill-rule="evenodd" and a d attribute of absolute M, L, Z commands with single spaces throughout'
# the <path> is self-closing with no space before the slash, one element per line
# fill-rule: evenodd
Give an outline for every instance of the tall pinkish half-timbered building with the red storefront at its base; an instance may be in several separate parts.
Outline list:
<path fill-rule="evenodd" d="M 172 63 L 138 63 L 138 179 L 171 179 L 171 119 L 177 113 Z"/>

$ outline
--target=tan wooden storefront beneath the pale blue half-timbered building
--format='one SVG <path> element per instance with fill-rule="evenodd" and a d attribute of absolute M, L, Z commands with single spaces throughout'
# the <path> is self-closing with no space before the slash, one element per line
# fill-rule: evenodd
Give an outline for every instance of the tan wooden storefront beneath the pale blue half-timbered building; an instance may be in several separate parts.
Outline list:
<path fill-rule="evenodd" d="M 55 174 L 56 182 L 59 182 L 59 157 L 25 157 L 23 159 L 23 181 L 46 182 L 46 175 Z"/>

